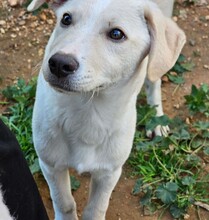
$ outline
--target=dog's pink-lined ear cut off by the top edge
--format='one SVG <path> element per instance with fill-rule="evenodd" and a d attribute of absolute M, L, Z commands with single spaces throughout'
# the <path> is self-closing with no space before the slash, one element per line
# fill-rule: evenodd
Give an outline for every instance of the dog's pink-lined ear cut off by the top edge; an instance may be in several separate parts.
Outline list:
<path fill-rule="evenodd" d="M 50 3 L 54 7 L 59 7 L 60 5 L 64 4 L 67 0 L 33 0 L 29 5 L 27 10 L 28 11 L 35 11 L 45 2 Z"/>

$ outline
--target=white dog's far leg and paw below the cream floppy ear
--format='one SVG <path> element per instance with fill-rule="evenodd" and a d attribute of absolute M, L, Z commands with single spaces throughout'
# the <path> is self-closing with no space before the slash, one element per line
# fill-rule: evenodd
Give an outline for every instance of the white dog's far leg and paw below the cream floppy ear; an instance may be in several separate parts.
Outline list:
<path fill-rule="evenodd" d="M 156 116 L 162 116 L 164 113 L 161 95 L 161 79 L 158 79 L 156 82 L 151 82 L 150 80 L 146 79 L 145 87 L 147 94 L 147 103 L 151 106 L 156 106 Z M 169 132 L 169 127 L 157 126 L 154 132 L 155 135 L 158 136 L 167 136 Z M 147 131 L 147 136 L 152 137 L 152 131 Z"/>

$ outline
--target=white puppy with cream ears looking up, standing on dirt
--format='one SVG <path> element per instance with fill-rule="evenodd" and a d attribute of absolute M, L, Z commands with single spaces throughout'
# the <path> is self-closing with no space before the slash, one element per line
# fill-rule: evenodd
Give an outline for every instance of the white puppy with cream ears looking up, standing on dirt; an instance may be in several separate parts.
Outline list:
<path fill-rule="evenodd" d="M 28 10 L 44 2 L 33 0 Z M 170 16 L 173 1 L 158 2 Z M 146 78 L 159 87 L 185 35 L 149 0 L 54 0 L 51 6 L 57 24 L 38 79 L 35 148 L 55 219 L 78 219 L 68 174 L 73 167 L 92 176 L 82 219 L 104 220 L 131 151 L 137 95 Z M 161 106 L 160 88 L 149 84 L 148 101 Z"/>

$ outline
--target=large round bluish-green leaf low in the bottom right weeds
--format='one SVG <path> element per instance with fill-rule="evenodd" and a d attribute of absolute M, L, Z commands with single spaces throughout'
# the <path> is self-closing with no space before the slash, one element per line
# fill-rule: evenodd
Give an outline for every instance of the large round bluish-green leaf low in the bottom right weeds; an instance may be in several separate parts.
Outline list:
<path fill-rule="evenodd" d="M 177 198 L 178 185 L 173 182 L 163 183 L 158 186 L 156 196 L 165 204 L 173 203 Z"/>

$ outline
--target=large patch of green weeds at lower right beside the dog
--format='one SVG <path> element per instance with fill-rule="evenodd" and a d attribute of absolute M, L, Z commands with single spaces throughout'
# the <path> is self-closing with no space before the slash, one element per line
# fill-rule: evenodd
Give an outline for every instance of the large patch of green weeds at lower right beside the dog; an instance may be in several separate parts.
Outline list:
<path fill-rule="evenodd" d="M 146 111 L 146 115 L 149 112 Z M 209 124 L 194 124 L 194 134 L 180 119 L 170 120 L 166 116 L 152 116 L 146 124 L 148 129 L 157 124 L 170 124 L 173 133 L 149 140 L 141 127 L 137 127 L 129 164 L 133 167 L 133 175 L 139 176 L 133 193 L 144 194 L 140 204 L 150 211 L 169 210 L 174 218 L 180 219 L 192 204 L 209 203 L 209 175 L 203 175 L 199 155 L 200 152 L 209 153 Z"/>

